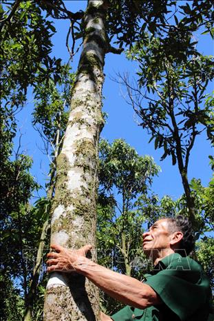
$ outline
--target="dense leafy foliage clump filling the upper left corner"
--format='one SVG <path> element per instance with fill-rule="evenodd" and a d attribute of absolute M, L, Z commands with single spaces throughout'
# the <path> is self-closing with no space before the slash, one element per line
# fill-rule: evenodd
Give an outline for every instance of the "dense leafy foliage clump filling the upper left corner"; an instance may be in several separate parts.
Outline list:
<path fill-rule="evenodd" d="M 12 3 L 8 5 L 10 12 Z M 1 17 L 7 17 L 7 14 L 7 8 L 1 5 Z M 12 96 L 12 93 L 25 95 L 28 85 L 35 85 L 49 77 L 57 80 L 61 59 L 50 56 L 54 32 L 54 25 L 43 17 L 34 1 L 20 1 L 12 20 L 6 21 L 2 28 L 3 99 L 7 99 L 9 94 Z"/>

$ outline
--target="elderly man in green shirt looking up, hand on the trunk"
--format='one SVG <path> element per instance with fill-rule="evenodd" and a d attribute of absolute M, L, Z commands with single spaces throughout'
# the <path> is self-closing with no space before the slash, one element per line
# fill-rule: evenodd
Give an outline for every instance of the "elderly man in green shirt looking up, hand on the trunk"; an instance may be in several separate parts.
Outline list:
<path fill-rule="evenodd" d="M 127 304 L 102 321 L 207 321 L 211 313 L 209 280 L 202 267 L 188 257 L 194 248 L 187 218 L 162 218 L 143 234 L 142 247 L 153 260 L 154 269 L 140 282 L 97 265 L 86 258 L 92 247 L 78 251 L 52 245 L 47 254 L 47 271 L 76 271 L 91 280 L 109 296 Z"/>

